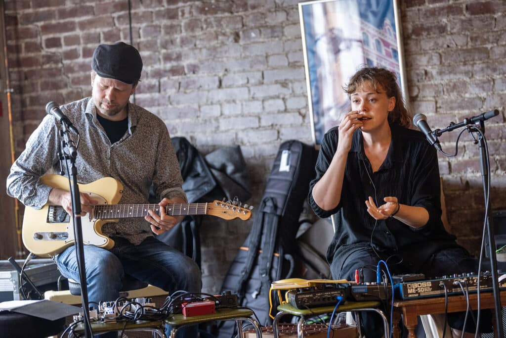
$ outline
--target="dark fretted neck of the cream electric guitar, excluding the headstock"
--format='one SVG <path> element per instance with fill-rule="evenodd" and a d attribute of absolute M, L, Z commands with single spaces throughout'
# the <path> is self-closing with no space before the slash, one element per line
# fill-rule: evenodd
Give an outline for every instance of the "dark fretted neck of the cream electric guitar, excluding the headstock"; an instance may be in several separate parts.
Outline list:
<path fill-rule="evenodd" d="M 144 217 L 149 210 L 160 214 L 158 204 L 101 204 L 93 208 L 92 218 L 116 219 L 128 217 Z M 205 215 L 207 203 L 175 203 L 165 207 L 165 213 L 170 216 Z"/>

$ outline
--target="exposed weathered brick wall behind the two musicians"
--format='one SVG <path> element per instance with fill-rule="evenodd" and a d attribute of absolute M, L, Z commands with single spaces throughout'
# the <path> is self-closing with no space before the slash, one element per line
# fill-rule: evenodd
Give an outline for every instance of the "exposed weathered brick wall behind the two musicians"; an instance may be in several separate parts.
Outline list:
<path fill-rule="evenodd" d="M 502 1 L 402 2 L 410 102 L 432 127 L 497 108 L 487 122 L 492 206 L 506 208 L 504 106 L 506 6 Z M 130 41 L 128 2 L 7 0 L 9 71 L 16 149 L 48 101 L 88 96 L 99 43 Z M 311 142 L 296 0 L 132 0 L 133 42 L 144 60 L 136 103 L 160 116 L 171 136 L 202 153 L 239 144 L 256 204 L 279 144 Z M 456 132 L 441 137 L 452 152 Z M 477 147 L 440 158 L 448 216 L 475 252 L 483 192 Z M 208 219 L 201 229 L 204 290 L 216 292 L 250 221 Z"/>

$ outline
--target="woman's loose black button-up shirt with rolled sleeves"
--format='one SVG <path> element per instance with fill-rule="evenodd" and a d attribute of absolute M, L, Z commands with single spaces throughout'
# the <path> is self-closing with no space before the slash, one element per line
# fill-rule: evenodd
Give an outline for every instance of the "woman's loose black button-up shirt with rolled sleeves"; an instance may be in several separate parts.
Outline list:
<path fill-rule="evenodd" d="M 315 213 L 329 217 L 336 213 L 336 232 L 327 250 L 330 263 L 344 261 L 357 246 L 372 246 L 384 254 L 402 256 L 404 264 L 416 270 L 434 252 L 458 246 L 441 221 L 441 192 L 436 150 L 423 133 L 390 125 L 392 142 L 385 161 L 372 172 L 365 156 L 362 133 L 356 130 L 345 169 L 341 201 L 333 210 L 323 210 L 314 201 L 314 184 L 327 170 L 338 145 L 338 127 L 324 136 L 316 163 L 316 178 L 310 184 L 309 204 Z M 384 197 L 397 197 L 400 204 L 424 207 L 429 212 L 425 226 L 415 229 L 388 218 L 369 215 L 365 201 L 371 196 L 377 206 Z M 377 201 L 377 202 L 376 202 Z M 376 226 L 374 226 L 376 223 Z M 337 262 L 335 262 L 337 263 Z"/>

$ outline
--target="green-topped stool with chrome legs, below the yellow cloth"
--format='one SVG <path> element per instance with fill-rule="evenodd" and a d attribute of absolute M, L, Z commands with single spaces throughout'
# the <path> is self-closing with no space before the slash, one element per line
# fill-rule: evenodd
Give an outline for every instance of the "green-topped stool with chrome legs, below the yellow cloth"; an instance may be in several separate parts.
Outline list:
<path fill-rule="evenodd" d="M 372 311 L 378 313 L 382 319 L 383 319 L 383 328 L 385 331 L 385 337 L 389 336 L 389 327 L 388 327 L 388 320 L 383 311 L 377 309 L 379 306 L 381 306 L 380 302 L 346 302 L 344 304 L 341 304 L 337 310 L 335 310 L 335 313 L 339 312 L 366 312 L 366 311 Z M 273 334 L 274 338 L 279 337 L 278 333 L 278 322 L 281 317 L 284 315 L 293 315 L 301 317 L 299 319 L 299 323 L 297 324 L 297 336 L 299 338 L 304 337 L 304 323 L 308 318 L 315 317 L 317 315 L 323 315 L 325 313 L 332 313 L 334 311 L 335 306 L 326 306 L 326 307 L 319 307 L 319 308 L 309 308 L 309 309 L 297 309 L 296 307 L 291 306 L 290 304 L 283 304 L 278 306 L 278 313 L 276 314 L 276 317 L 274 317 L 274 321 L 272 322 L 272 328 L 273 328 Z M 358 320 L 358 316 L 356 317 L 357 322 L 357 330 L 359 331 L 360 335 L 360 321 Z"/>

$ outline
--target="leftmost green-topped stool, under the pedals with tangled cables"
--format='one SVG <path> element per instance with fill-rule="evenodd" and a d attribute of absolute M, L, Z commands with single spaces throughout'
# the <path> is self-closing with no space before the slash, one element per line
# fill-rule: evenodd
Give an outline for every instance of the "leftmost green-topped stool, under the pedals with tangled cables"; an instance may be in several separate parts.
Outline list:
<path fill-rule="evenodd" d="M 113 323 L 92 323 L 93 334 L 106 333 L 111 331 L 148 331 L 156 334 L 159 338 L 166 338 L 165 326 L 162 320 L 158 321 L 143 321 L 137 322 L 113 322 Z M 74 328 L 74 333 L 80 337 L 85 334 L 85 326 L 79 323 Z"/>

